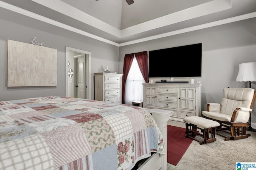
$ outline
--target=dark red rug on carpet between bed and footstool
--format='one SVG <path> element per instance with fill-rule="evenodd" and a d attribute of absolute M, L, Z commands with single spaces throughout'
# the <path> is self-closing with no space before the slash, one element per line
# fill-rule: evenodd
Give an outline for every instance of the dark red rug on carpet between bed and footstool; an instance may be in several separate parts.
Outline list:
<path fill-rule="evenodd" d="M 167 125 L 167 162 L 175 166 L 193 141 L 185 132 L 185 128 Z"/>

